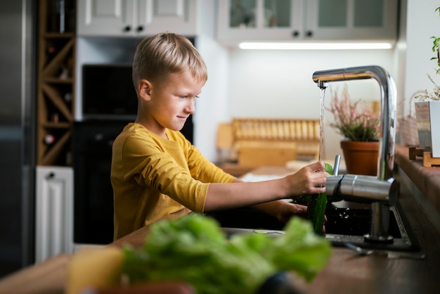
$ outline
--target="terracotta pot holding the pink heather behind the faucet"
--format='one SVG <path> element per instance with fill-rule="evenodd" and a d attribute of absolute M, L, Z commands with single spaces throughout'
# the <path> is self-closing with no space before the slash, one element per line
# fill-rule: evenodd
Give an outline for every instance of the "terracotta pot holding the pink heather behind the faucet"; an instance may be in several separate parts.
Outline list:
<path fill-rule="evenodd" d="M 341 141 L 347 174 L 377 175 L 379 142 Z"/>

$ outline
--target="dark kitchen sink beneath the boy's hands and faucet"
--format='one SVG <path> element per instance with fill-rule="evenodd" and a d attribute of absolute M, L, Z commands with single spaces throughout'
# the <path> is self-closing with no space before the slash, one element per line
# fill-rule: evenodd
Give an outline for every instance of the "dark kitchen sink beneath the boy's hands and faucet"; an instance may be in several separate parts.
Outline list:
<path fill-rule="evenodd" d="M 389 235 L 392 241 L 378 243 L 366 241 L 363 237 L 370 233 L 371 210 L 370 205 L 361 203 L 330 203 L 325 215 L 325 238 L 333 246 L 345 246 L 353 243 L 363 248 L 375 248 L 380 250 L 420 250 L 413 231 L 410 229 L 406 217 L 401 214 L 399 203 L 390 208 Z M 227 234 L 240 234 L 242 232 L 254 232 L 256 234 L 271 234 L 276 236 L 283 234 L 284 224 L 277 219 L 265 215 L 250 208 L 236 210 L 224 210 L 209 214 L 219 221 Z"/>

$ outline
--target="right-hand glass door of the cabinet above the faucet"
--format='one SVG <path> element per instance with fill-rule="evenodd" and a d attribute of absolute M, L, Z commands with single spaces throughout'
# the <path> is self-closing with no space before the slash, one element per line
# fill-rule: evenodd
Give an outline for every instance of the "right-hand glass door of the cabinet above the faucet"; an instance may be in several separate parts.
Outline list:
<path fill-rule="evenodd" d="M 394 40 L 397 0 L 308 0 L 306 35 L 312 39 Z"/>

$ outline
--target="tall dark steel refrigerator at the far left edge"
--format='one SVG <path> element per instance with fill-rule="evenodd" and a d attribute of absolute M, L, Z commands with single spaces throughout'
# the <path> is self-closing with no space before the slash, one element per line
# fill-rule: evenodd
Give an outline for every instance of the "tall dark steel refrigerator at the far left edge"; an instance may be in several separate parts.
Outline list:
<path fill-rule="evenodd" d="M 35 2 L 0 1 L 0 278 L 34 262 Z"/>

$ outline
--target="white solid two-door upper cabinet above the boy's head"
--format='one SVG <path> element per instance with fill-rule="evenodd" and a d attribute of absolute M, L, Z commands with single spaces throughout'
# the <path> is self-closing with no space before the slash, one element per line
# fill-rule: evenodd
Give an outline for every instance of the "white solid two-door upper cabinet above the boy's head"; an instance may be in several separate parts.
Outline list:
<path fill-rule="evenodd" d="M 197 34 L 198 0 L 78 0 L 77 34 L 136 37 L 158 32 Z"/>

